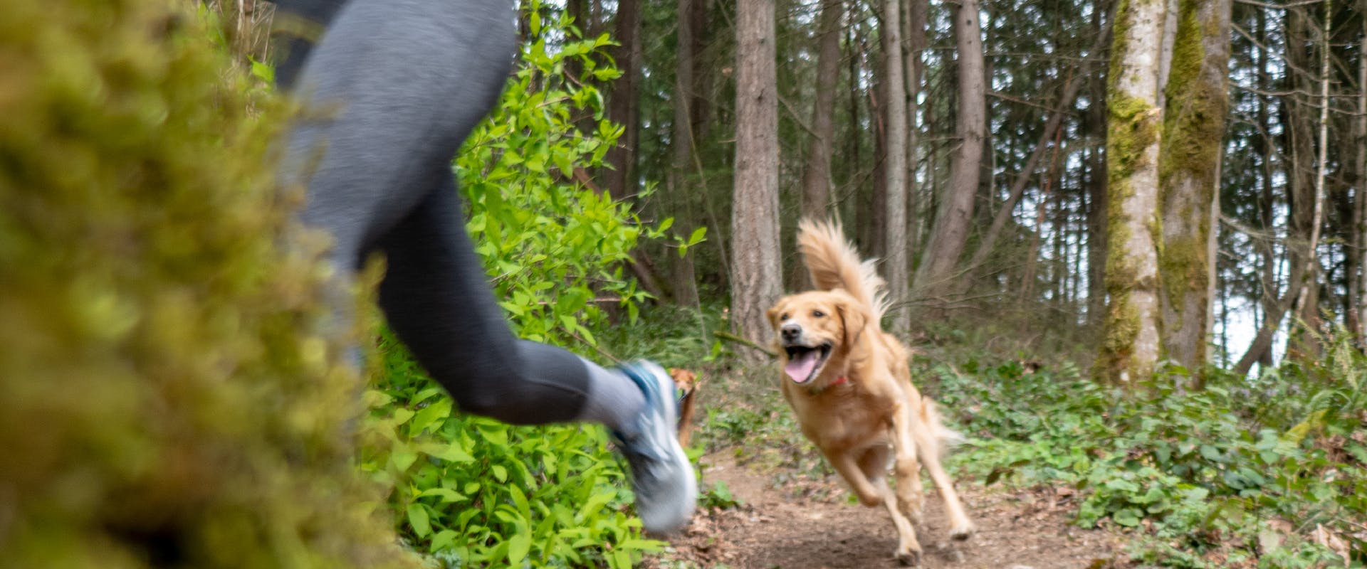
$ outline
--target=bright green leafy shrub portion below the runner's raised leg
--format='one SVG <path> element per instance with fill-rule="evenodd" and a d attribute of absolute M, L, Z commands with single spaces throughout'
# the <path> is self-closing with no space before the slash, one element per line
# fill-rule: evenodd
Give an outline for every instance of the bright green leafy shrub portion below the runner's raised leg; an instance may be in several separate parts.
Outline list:
<path fill-rule="evenodd" d="M 394 483 L 403 535 L 452 566 L 630 566 L 660 547 L 627 514 L 632 493 L 597 426 L 510 427 L 463 415 L 385 340 L 368 393 L 362 468 Z"/>

